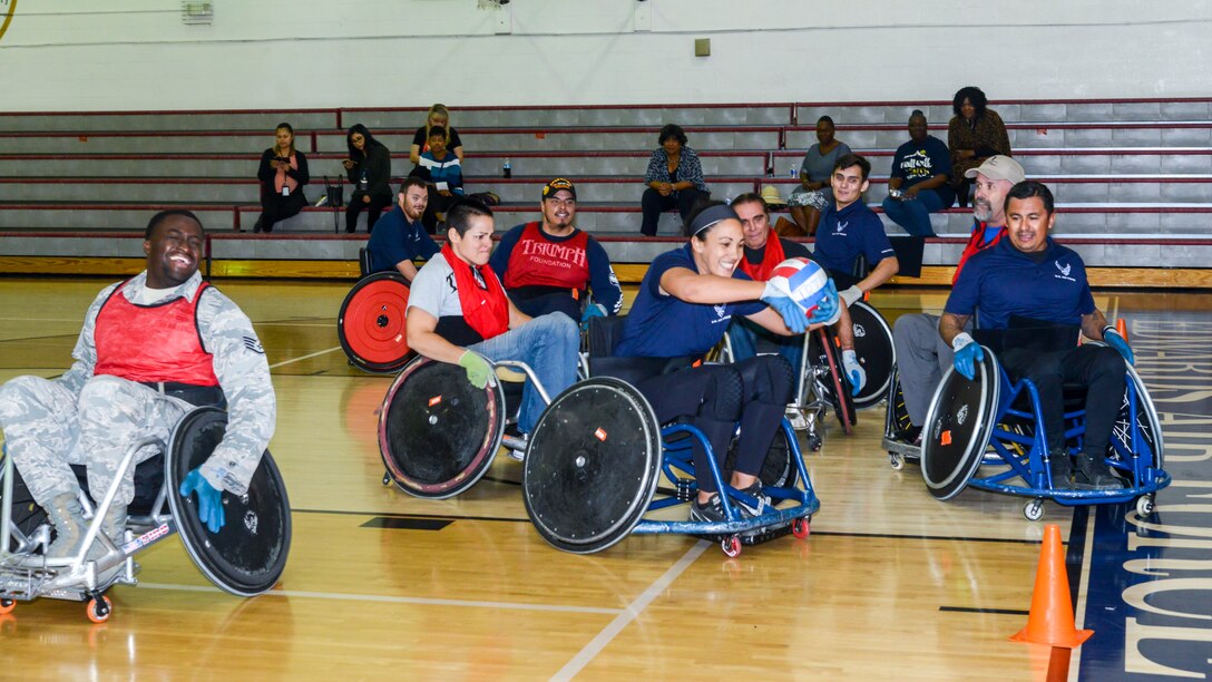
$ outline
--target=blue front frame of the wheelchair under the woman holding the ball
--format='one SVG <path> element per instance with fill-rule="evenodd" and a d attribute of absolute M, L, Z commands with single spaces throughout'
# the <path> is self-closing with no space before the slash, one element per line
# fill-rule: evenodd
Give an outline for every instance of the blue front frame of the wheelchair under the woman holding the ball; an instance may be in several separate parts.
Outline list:
<path fill-rule="evenodd" d="M 737 490 L 736 488 L 732 488 L 731 485 L 727 485 L 724 482 L 724 477 L 720 472 L 720 465 L 716 462 L 715 457 L 711 456 L 711 445 L 708 443 L 702 431 L 690 425 L 674 424 L 661 430 L 663 442 L 661 470 L 665 478 L 676 485 L 676 495 L 653 500 L 648 505 L 648 512 L 688 504 L 698 494 L 698 485 L 694 482 L 696 472 L 693 462 L 693 443 L 697 442 L 704 451 L 708 453 L 707 461 L 710 465 L 709 473 L 711 474 L 711 481 L 715 483 L 715 489 L 724 493 L 720 495 L 720 500 L 727 521 L 698 522 L 641 519 L 635 528 L 631 529 L 631 533 L 724 535 L 725 538 L 721 540 L 721 546 L 728 556 L 736 556 L 739 553 L 739 542 L 742 540 L 739 534 L 742 533 L 787 527 L 790 524 L 791 532 L 796 536 L 806 536 L 808 533 L 807 524 L 811 522 L 812 515 L 821 508 L 821 501 L 817 499 L 817 495 L 812 489 L 812 481 L 808 478 L 808 471 L 804 465 L 804 457 L 800 451 L 800 444 L 795 438 L 795 431 L 791 428 L 791 425 L 787 421 L 787 419 L 783 419 L 779 428 L 782 430 L 783 436 L 787 437 L 790 456 L 795 462 L 795 471 L 799 479 L 804 482 L 804 488 L 795 488 L 793 481 L 793 487 L 789 488 L 764 485 L 762 490 L 771 496 L 772 505 L 778 504 L 778 501 L 782 500 L 794 500 L 796 502 L 794 506 L 785 508 L 774 508 L 772 506 L 768 512 L 760 516 L 743 518 L 741 516 L 741 510 L 737 507 L 736 502 L 732 501 L 732 498 L 738 498 L 745 504 L 751 504 L 754 506 L 756 506 L 758 500 Z M 688 438 L 681 438 L 670 443 L 669 438 L 678 434 L 686 434 Z M 687 473 L 690 478 L 679 477 L 676 473 L 678 471 Z M 768 538 L 762 538 L 762 540 Z"/>

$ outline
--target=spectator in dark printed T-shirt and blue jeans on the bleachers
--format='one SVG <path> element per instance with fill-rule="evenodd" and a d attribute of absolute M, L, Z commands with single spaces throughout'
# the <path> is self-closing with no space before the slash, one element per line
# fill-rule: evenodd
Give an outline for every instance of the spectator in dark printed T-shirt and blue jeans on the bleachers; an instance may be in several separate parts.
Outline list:
<path fill-rule="evenodd" d="M 955 203 L 955 191 L 947 182 L 951 155 L 943 141 L 926 132 L 926 114 L 909 115 L 909 142 L 897 147 L 888 177 L 884 212 L 915 237 L 933 237 L 930 214 Z"/>

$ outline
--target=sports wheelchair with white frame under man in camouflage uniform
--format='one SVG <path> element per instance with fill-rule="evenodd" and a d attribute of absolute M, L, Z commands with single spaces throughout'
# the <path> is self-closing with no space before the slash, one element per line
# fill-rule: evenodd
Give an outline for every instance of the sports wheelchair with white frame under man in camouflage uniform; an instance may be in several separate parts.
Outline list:
<path fill-rule="evenodd" d="M 199 570 L 223 591 L 252 597 L 273 589 L 286 568 L 291 511 L 286 485 L 269 451 L 262 455 L 246 494 L 223 493 L 227 523 L 217 534 L 199 519 L 195 498 L 177 493 L 185 476 L 218 445 L 225 427 L 222 409 L 202 407 L 181 420 L 167 447 L 154 438 L 133 443 L 99 502 L 93 505 L 81 493 L 91 522 L 82 547 L 69 559 L 47 561 L 42 556 L 51 541 L 46 512 L 29 495 L 12 459 L 5 456 L 0 468 L 0 614 L 13 610 L 17 601 L 48 597 L 87 602 L 88 619 L 103 623 L 113 613 L 105 591 L 115 584 L 138 582 L 133 556 L 175 533 L 181 533 Z M 136 496 L 127 507 L 119 545 L 101 533 L 101 523 L 143 448 L 158 453 L 135 468 Z M 84 467 L 74 468 L 82 478 Z"/>

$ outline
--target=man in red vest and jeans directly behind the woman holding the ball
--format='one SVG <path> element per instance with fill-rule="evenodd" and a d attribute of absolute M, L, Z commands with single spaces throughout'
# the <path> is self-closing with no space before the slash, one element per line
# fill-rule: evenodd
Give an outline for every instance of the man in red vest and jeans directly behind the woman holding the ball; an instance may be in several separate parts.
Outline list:
<path fill-rule="evenodd" d="M 767 186 L 766 189 L 774 188 Z M 744 235 L 744 257 L 739 269 L 754 282 L 770 279 L 770 272 L 774 269 L 774 266 L 787 258 L 814 260 L 804 244 L 774 234 L 770 227 L 767 194 L 771 193 L 764 189 L 761 195 L 750 192 L 732 200 L 732 210 L 741 218 L 741 229 Z M 773 192 L 773 197 L 778 197 L 777 189 Z M 772 345 L 778 349 L 778 354 L 791 364 L 795 376 L 802 371 L 800 362 L 804 346 L 802 335 L 779 336 L 747 318 L 733 318 L 732 324 L 728 325 L 728 339 L 732 341 L 732 358 L 734 360 L 756 356 L 759 343 Z M 854 330 L 846 306 L 841 307 L 841 317 L 837 318 L 837 340 L 842 348 L 842 365 L 853 391 L 857 393 L 865 382 L 867 373 L 858 363 L 858 356 L 854 354 Z"/>

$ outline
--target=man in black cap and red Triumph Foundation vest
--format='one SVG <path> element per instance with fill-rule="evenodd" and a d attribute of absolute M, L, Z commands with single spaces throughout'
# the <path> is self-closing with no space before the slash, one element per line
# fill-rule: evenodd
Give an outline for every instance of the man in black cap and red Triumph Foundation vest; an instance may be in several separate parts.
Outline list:
<path fill-rule="evenodd" d="M 610 257 L 596 239 L 577 229 L 577 187 L 558 177 L 543 186 L 542 221 L 520 225 L 501 238 L 488 265 L 504 282 L 518 309 L 539 317 L 561 312 L 579 320 L 589 313 L 587 294 L 601 311 L 623 307 Z"/>

